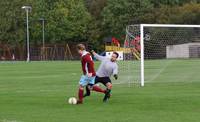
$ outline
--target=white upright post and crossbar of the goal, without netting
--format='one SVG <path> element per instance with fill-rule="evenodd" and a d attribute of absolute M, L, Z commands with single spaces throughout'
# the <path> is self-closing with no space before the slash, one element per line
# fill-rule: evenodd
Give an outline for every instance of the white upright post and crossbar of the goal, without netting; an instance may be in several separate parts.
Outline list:
<path fill-rule="evenodd" d="M 167 27 L 167 28 L 200 28 L 200 25 L 181 25 L 181 24 L 140 24 L 140 55 L 141 55 L 141 61 L 140 61 L 140 86 L 144 87 L 144 28 L 145 27 L 154 27 L 154 28 L 160 28 L 160 27 Z"/>

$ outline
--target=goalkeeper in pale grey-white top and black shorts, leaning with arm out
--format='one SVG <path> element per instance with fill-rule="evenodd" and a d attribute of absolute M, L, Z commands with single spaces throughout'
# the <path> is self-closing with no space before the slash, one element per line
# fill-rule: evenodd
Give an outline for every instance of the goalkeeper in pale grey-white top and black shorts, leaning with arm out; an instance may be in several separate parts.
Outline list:
<path fill-rule="evenodd" d="M 100 56 L 94 51 L 92 51 L 92 54 L 97 60 L 101 61 L 101 64 L 96 72 L 95 84 L 102 83 L 106 86 L 105 90 L 97 85 L 94 85 L 93 91 L 104 93 L 105 96 L 103 98 L 103 101 L 106 102 L 108 98 L 110 98 L 110 93 L 112 89 L 112 82 L 110 80 L 110 77 L 113 75 L 116 80 L 118 78 L 118 65 L 116 63 L 116 60 L 119 54 L 117 52 L 113 52 L 110 59 L 105 56 Z M 86 87 L 86 94 L 84 95 L 84 97 L 86 96 L 90 96 L 90 90 L 88 89 L 88 87 Z"/>

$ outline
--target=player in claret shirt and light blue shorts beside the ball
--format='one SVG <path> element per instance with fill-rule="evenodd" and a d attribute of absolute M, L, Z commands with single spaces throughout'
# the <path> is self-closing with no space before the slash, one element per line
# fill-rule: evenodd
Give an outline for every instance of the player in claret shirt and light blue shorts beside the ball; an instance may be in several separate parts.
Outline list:
<path fill-rule="evenodd" d="M 77 51 L 81 56 L 81 64 L 82 64 L 82 71 L 83 75 L 79 81 L 79 90 L 78 90 L 78 101 L 77 104 L 83 103 L 83 93 L 84 87 L 88 85 L 89 89 L 91 90 L 94 82 L 95 82 L 95 70 L 94 70 L 94 62 L 89 52 L 86 51 L 85 45 L 78 44 Z"/>

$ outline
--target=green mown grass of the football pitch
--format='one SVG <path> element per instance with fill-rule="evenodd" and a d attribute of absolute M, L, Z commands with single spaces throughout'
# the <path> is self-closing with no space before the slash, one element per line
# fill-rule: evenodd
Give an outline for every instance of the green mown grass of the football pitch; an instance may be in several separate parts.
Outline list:
<path fill-rule="evenodd" d="M 114 85 L 108 103 L 93 93 L 69 105 L 80 62 L 2 62 L 0 122 L 200 121 L 200 60 L 147 61 L 145 69 L 143 88 Z"/>

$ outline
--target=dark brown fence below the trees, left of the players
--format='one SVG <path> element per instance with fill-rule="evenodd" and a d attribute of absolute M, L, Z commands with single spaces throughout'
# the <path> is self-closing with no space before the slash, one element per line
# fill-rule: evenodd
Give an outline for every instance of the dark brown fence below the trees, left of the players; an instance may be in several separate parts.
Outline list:
<path fill-rule="evenodd" d="M 79 58 L 75 51 L 75 44 L 54 44 L 30 46 L 30 60 L 76 60 Z M 24 45 L 0 45 L 0 60 L 26 60 L 26 47 Z"/>

